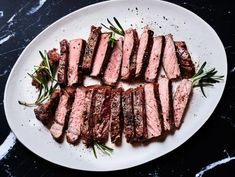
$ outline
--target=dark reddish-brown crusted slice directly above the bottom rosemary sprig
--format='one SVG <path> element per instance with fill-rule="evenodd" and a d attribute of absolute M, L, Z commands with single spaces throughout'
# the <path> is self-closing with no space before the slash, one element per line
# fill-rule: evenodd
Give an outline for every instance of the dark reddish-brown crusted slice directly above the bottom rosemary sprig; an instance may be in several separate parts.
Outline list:
<path fill-rule="evenodd" d="M 104 92 L 104 100 L 101 105 L 101 111 L 99 119 L 96 120 L 93 128 L 93 139 L 98 143 L 105 143 L 109 136 L 109 124 L 110 124 L 110 94 L 111 89 L 102 88 Z"/>

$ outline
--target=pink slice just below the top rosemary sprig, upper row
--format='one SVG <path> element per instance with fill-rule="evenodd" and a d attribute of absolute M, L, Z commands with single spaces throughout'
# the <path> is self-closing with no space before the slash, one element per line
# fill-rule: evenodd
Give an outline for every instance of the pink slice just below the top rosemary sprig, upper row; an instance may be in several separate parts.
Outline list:
<path fill-rule="evenodd" d="M 119 38 L 114 45 L 109 63 L 104 72 L 102 82 L 106 85 L 115 86 L 117 84 L 122 65 L 122 45 L 123 39 Z"/>

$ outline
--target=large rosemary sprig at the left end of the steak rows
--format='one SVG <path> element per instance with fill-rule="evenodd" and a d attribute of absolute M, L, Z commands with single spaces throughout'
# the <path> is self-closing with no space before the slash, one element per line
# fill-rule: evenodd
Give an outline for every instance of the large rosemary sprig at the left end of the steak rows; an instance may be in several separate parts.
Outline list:
<path fill-rule="evenodd" d="M 35 106 L 42 103 L 50 97 L 52 91 L 57 87 L 55 80 L 56 69 L 50 65 L 47 52 L 44 54 L 39 51 L 42 58 L 42 63 L 39 66 L 34 67 L 33 74 L 27 73 L 33 80 L 34 85 L 39 89 L 37 100 L 34 103 L 27 103 L 24 101 L 18 101 L 19 104 L 24 106 Z"/>

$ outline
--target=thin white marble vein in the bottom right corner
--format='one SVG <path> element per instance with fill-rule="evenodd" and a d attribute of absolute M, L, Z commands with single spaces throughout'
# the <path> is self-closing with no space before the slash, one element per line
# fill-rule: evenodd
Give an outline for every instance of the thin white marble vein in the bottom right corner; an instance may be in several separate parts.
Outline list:
<path fill-rule="evenodd" d="M 225 152 L 226 152 L 226 151 L 225 151 Z M 218 165 L 222 165 L 222 164 L 228 163 L 228 162 L 230 162 L 230 161 L 232 161 L 232 160 L 235 160 L 235 157 L 230 157 L 227 152 L 226 152 L 226 154 L 227 154 L 227 157 L 226 157 L 226 158 L 221 159 L 221 160 L 216 161 L 216 162 L 213 162 L 213 163 L 207 165 L 206 167 L 203 167 L 203 168 L 201 169 L 201 171 L 198 172 L 198 173 L 195 175 L 195 177 L 201 177 L 205 172 L 207 172 L 207 171 L 209 171 L 209 170 L 211 170 L 211 169 L 217 167 Z"/>

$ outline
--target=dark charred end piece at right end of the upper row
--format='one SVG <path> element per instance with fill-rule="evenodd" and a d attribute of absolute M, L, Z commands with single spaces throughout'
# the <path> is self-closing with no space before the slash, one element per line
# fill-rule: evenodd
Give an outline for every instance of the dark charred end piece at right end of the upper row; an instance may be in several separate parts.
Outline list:
<path fill-rule="evenodd" d="M 195 74 L 195 66 L 184 41 L 175 42 L 176 54 L 180 64 L 182 78 L 188 79 Z"/>

